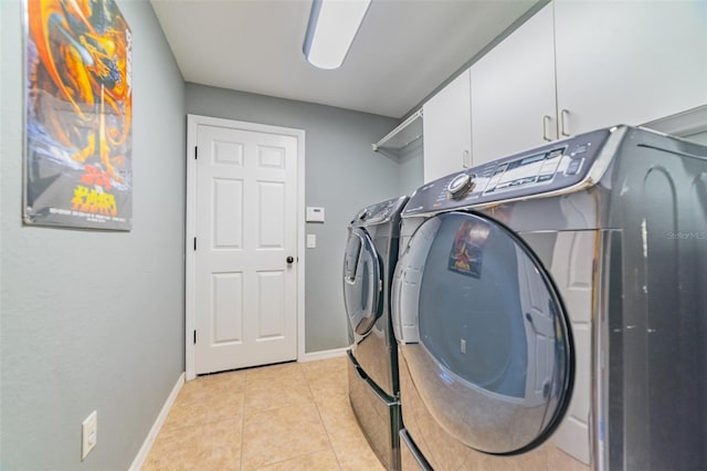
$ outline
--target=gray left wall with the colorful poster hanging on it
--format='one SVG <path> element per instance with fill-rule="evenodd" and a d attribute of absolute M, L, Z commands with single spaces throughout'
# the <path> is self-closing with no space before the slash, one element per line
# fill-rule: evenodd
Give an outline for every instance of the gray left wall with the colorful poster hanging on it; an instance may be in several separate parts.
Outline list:
<path fill-rule="evenodd" d="M 184 84 L 149 3 L 118 6 L 134 40 L 128 233 L 21 224 L 22 15 L 0 1 L 3 470 L 127 469 L 183 371 Z"/>

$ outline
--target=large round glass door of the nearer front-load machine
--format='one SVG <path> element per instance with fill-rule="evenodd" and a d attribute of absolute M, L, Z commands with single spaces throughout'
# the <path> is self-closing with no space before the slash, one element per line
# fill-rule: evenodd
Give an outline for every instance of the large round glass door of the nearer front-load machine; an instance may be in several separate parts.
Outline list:
<path fill-rule="evenodd" d="M 489 453 L 541 443 L 570 399 L 572 342 L 537 257 L 486 217 L 451 212 L 410 239 L 393 282 L 393 325 L 425 407 Z M 403 414 L 404 391 L 402 391 Z"/>

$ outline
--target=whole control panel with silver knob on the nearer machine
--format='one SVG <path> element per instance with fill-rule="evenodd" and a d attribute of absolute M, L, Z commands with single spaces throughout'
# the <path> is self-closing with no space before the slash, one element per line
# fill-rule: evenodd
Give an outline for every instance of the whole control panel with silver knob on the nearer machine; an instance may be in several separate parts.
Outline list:
<path fill-rule="evenodd" d="M 449 175 L 420 187 L 403 216 L 526 198 L 587 177 L 611 134 L 601 129 Z"/>

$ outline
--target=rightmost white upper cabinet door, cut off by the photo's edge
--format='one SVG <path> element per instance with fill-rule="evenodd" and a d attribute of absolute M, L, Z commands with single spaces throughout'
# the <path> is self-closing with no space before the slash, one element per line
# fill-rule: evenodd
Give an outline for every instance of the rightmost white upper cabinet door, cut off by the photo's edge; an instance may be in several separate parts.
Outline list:
<path fill-rule="evenodd" d="M 707 2 L 558 0 L 555 20 L 564 134 L 707 103 Z"/>

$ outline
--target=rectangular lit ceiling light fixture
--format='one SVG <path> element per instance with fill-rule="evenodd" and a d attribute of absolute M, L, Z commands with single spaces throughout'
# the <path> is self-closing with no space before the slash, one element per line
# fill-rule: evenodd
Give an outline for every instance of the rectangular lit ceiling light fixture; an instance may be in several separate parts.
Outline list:
<path fill-rule="evenodd" d="M 303 51 L 315 67 L 341 66 L 371 0 L 314 0 Z"/>

